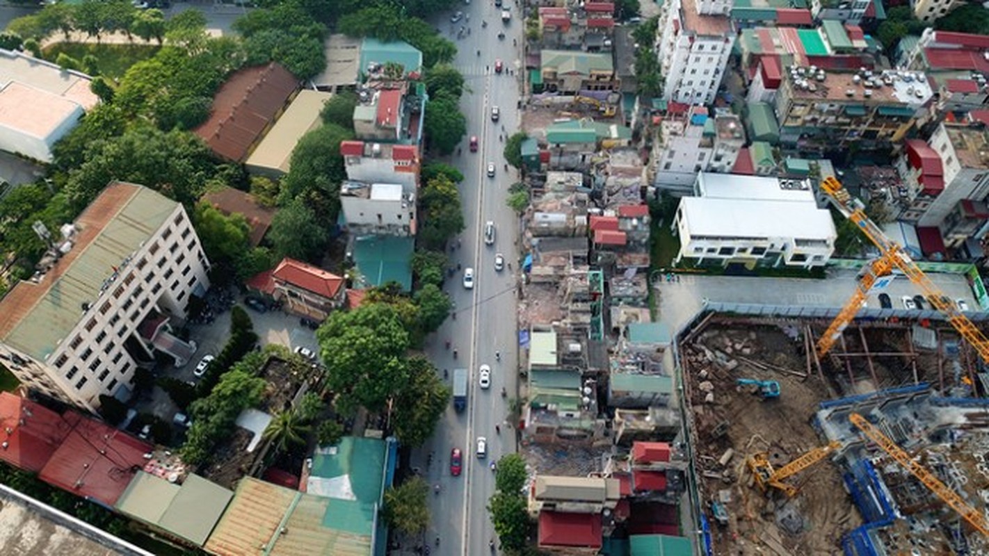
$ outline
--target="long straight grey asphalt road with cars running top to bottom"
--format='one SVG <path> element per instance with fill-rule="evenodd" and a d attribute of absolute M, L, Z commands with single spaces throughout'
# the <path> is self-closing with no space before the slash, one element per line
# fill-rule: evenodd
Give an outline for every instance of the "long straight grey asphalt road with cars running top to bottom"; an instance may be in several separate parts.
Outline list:
<path fill-rule="evenodd" d="M 465 176 L 460 186 L 466 229 L 460 237 L 460 246 L 450 253 L 453 263 L 463 269 L 475 270 L 475 287 L 463 286 L 463 274 L 458 273 L 446 286 L 456 304 L 456 319 L 448 320 L 433 338 L 427 351 L 436 365 L 448 369 L 452 379 L 453 369 L 467 368 L 470 376 L 467 409 L 456 413 L 453 408 L 437 426 L 435 436 L 413 454 L 414 460 L 423 462 L 432 453 L 432 464 L 420 464 L 422 473 L 433 485 L 440 485 L 438 495 L 430 497 L 432 527 L 426 533 L 426 542 L 433 546 L 434 554 L 489 554 L 488 543 L 495 537 L 494 527 L 487 511 L 488 499 L 494 493 L 494 473 L 491 461 L 515 450 L 514 429 L 507 423 L 508 400 L 516 391 L 517 332 L 515 277 L 519 268 L 518 218 L 505 204 L 508 187 L 518 181 L 518 173 L 508 167 L 502 156 L 504 143 L 499 135 L 507 137 L 519 127 L 519 73 L 521 65 L 522 22 L 518 8 L 511 4 L 512 18 L 503 25 L 500 12 L 492 0 L 474 0 L 458 5 L 470 21 L 450 23 L 450 15 L 443 16 L 436 26 L 459 49 L 456 67 L 464 75 L 468 92 L 461 101 L 461 112 L 467 117 L 467 137 L 462 154 L 455 154 L 451 163 Z M 481 23 L 487 20 L 487 29 Z M 471 29 L 470 35 L 457 39 L 461 26 Z M 503 40 L 497 39 L 503 32 Z M 512 45 L 512 39 L 519 46 Z M 481 54 L 478 54 L 481 50 Z M 495 59 L 500 58 L 504 72 L 494 72 Z M 513 75 L 508 74 L 511 70 Z M 492 121 L 492 108 L 500 109 L 500 119 Z M 504 130 L 502 130 L 502 125 Z M 470 152 L 468 139 L 476 135 L 479 151 Z M 494 163 L 494 178 L 487 175 L 487 166 Z M 484 226 L 494 222 L 494 245 L 486 245 Z M 501 271 L 494 270 L 494 255 L 501 253 L 506 264 Z M 445 343 L 450 341 L 451 350 Z M 453 350 L 458 357 L 454 359 Z M 501 360 L 496 360 L 500 353 Z M 478 367 L 492 367 L 492 385 L 482 389 L 478 384 Z M 507 396 L 500 395 L 501 388 Z M 495 433 L 495 426 L 501 429 Z M 476 456 L 477 438 L 488 438 L 488 456 Z M 464 453 L 464 469 L 460 477 L 450 475 L 450 450 L 459 447 Z M 440 545 L 434 545 L 436 536 Z M 495 539 L 496 540 L 496 539 Z"/>

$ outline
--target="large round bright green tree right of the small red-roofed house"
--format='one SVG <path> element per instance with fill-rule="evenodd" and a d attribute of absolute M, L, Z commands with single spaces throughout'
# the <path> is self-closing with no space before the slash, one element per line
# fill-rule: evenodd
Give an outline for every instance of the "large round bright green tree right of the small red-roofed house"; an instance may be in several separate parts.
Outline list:
<path fill-rule="evenodd" d="M 327 388 L 378 411 L 405 380 L 408 332 L 394 307 L 365 303 L 334 311 L 316 331 Z"/>

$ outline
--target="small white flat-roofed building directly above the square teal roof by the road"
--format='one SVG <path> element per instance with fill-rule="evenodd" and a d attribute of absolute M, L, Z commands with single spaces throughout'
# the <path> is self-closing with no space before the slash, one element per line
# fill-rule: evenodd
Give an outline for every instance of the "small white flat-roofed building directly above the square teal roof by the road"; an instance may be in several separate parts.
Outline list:
<path fill-rule="evenodd" d="M 415 235 L 415 195 L 399 184 L 344 182 L 340 204 L 351 233 Z"/>

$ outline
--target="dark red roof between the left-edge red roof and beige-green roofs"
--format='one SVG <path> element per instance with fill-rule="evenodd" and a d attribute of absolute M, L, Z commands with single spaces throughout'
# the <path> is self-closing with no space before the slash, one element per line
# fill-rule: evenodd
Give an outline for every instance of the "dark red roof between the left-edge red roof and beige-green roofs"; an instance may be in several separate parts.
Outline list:
<path fill-rule="evenodd" d="M 62 416 L 71 432 L 39 478 L 76 496 L 113 507 L 131 484 L 151 444 L 75 412 Z"/>

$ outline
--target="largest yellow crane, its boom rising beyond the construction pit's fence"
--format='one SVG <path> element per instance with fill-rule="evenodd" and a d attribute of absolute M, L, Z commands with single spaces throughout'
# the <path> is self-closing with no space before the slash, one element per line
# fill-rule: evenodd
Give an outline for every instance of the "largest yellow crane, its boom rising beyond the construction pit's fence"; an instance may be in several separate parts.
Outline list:
<path fill-rule="evenodd" d="M 821 182 L 821 191 L 828 196 L 828 199 L 831 199 L 832 203 L 846 218 L 858 226 L 858 229 L 865 234 L 869 241 L 879 248 L 879 258 L 871 262 L 864 270 L 861 278 L 859 278 L 858 289 L 854 292 L 852 299 L 842 308 L 828 330 L 817 341 L 818 357 L 824 357 L 842 337 L 842 333 L 854 320 L 855 314 L 875 280 L 889 275 L 893 269 L 898 269 L 907 278 L 910 278 L 911 282 L 920 287 L 924 296 L 944 314 L 947 322 L 958 331 L 965 341 L 975 348 L 982 360 L 989 362 L 989 339 L 975 327 L 972 321 L 968 320 L 968 317 L 958 310 L 931 278 L 928 278 L 921 271 L 906 251 L 895 241 L 886 237 L 879 226 L 869 219 L 865 214 L 865 206 L 862 202 L 849 195 L 849 192 L 842 187 L 841 182 L 834 177 L 825 178 Z"/>

